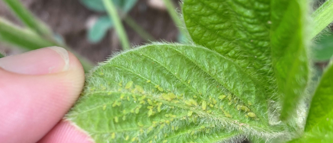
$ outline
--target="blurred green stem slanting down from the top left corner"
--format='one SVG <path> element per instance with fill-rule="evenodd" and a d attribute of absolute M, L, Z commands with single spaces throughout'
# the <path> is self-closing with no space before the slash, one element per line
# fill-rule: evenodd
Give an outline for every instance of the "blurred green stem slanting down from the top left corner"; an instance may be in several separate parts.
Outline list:
<path fill-rule="evenodd" d="M 42 36 L 52 37 L 52 31 L 38 20 L 19 0 L 3 0 L 15 15 L 30 29 Z"/>

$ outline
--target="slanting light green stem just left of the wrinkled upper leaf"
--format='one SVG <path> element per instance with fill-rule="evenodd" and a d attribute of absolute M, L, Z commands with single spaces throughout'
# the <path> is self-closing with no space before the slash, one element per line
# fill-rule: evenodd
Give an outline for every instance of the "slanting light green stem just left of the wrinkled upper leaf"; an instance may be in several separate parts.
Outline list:
<path fill-rule="evenodd" d="M 167 8 L 172 20 L 175 22 L 176 26 L 178 27 L 178 30 L 182 33 L 182 35 L 186 36 L 187 39 L 187 33 L 183 29 L 184 25 L 182 20 L 179 18 L 178 13 L 176 12 L 176 6 L 171 0 L 163 0 L 165 7 Z"/>

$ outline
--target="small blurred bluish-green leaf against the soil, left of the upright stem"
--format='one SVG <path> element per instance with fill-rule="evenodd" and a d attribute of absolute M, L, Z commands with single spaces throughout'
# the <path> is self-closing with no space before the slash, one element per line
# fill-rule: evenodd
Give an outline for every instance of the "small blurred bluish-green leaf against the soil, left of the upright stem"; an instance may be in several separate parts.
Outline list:
<path fill-rule="evenodd" d="M 109 16 L 101 16 L 98 18 L 93 27 L 88 31 L 88 40 L 97 43 L 103 39 L 108 30 L 113 27 L 113 22 Z"/>

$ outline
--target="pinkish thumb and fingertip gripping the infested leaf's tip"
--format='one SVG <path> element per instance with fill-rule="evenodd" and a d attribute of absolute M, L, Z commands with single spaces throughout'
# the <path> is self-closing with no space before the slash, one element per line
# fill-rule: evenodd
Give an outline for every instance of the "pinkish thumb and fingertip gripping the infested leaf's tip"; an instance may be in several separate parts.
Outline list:
<path fill-rule="evenodd" d="M 60 47 L 1 58 L 1 143 L 94 143 L 64 118 L 83 84 L 80 62 Z"/>

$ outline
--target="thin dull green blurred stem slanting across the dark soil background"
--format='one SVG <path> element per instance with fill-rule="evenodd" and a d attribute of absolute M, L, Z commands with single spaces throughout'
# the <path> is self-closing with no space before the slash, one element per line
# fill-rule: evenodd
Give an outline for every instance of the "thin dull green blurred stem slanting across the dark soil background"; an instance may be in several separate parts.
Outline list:
<path fill-rule="evenodd" d="M 152 41 L 155 39 L 153 36 L 147 33 L 139 24 L 137 24 L 131 16 L 129 15 L 125 16 L 124 21 L 142 38 L 148 41 Z"/>

